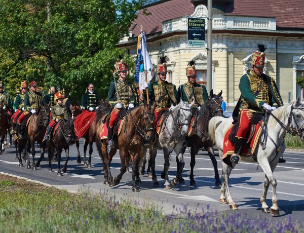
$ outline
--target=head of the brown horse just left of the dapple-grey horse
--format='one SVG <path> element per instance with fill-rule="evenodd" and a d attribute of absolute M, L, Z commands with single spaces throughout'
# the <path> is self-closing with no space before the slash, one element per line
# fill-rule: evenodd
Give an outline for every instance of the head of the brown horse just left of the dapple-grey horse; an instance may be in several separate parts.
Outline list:
<path fill-rule="evenodd" d="M 156 107 L 156 102 L 153 105 L 147 104 L 144 102 L 143 111 L 142 111 L 142 128 L 144 132 L 145 139 L 149 141 L 154 138 L 155 128 L 154 128 L 154 120 L 155 114 L 154 110 Z"/>

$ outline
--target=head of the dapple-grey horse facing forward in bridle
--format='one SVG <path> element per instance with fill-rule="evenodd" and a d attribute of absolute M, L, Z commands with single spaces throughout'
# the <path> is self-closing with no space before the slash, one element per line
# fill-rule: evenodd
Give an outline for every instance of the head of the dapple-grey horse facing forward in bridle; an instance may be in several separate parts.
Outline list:
<path fill-rule="evenodd" d="M 181 130 L 182 136 L 186 136 L 188 134 L 188 128 L 192 116 L 191 107 L 193 104 L 194 101 L 192 101 L 191 104 L 187 104 L 187 102 L 183 102 L 182 99 L 180 99 L 179 104 L 172 109 L 172 114 L 177 114 L 176 124 L 178 129 Z M 175 118 L 173 117 L 173 119 Z"/>

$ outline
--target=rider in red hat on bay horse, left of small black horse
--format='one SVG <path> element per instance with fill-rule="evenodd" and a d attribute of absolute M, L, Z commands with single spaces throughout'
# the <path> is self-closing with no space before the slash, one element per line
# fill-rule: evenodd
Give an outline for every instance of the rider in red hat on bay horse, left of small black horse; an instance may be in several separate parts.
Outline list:
<path fill-rule="evenodd" d="M 29 83 L 29 92 L 24 95 L 24 111 L 17 121 L 17 134 L 20 140 L 23 139 L 21 124 L 29 113 L 35 114 L 38 108 L 44 103 L 40 92 L 37 92 L 37 84 L 35 81 Z"/>

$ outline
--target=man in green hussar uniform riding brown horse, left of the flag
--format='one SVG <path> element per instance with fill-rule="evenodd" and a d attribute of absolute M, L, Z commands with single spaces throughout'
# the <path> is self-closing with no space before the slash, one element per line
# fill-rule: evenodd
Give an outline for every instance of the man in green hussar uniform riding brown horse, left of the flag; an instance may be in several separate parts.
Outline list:
<path fill-rule="evenodd" d="M 116 119 L 123 108 L 133 108 L 135 106 L 135 87 L 126 80 L 127 77 L 127 64 L 124 60 L 118 61 L 115 64 L 116 71 L 118 72 L 118 79 L 111 82 L 107 100 L 114 108 L 110 114 L 108 125 L 108 146 L 115 147 L 113 138 L 113 126 Z"/>

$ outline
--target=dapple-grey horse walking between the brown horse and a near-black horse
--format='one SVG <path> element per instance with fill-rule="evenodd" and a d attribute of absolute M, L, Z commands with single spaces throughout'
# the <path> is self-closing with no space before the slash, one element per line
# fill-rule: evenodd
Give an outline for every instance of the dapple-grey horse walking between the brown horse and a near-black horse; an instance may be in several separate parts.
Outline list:
<path fill-rule="evenodd" d="M 191 104 L 187 104 L 180 100 L 179 104 L 177 104 L 171 111 L 169 111 L 169 115 L 167 119 L 164 119 L 163 124 L 161 126 L 161 130 L 159 133 L 158 141 L 160 148 L 164 151 L 164 172 L 162 172 L 161 177 L 165 179 L 164 187 L 166 189 L 170 189 L 170 183 L 168 178 L 168 170 L 169 170 L 169 156 L 170 153 L 174 150 L 177 154 L 177 158 L 179 161 L 178 173 L 176 178 L 173 178 L 172 185 L 175 186 L 179 183 L 181 178 L 182 169 L 184 167 L 183 160 L 183 143 L 186 135 L 188 134 L 188 128 L 191 120 L 191 107 L 194 104 L 194 101 Z M 154 186 L 159 186 L 159 183 L 155 174 L 155 158 L 157 154 L 157 149 L 150 144 L 149 146 L 151 153 L 151 171 L 152 171 L 152 180 Z"/>

